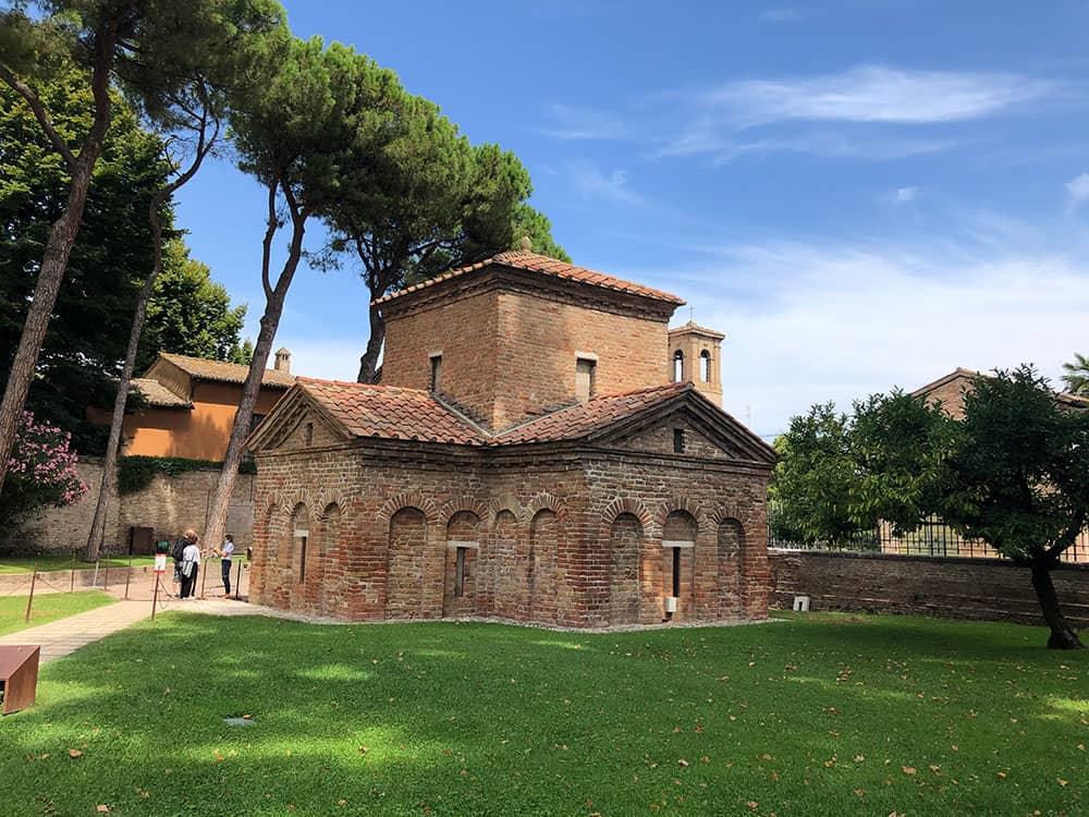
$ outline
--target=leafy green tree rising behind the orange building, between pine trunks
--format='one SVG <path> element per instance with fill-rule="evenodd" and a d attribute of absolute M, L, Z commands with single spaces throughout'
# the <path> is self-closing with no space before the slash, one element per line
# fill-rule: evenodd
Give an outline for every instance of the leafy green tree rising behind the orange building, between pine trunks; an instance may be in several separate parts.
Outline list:
<path fill-rule="evenodd" d="M 245 317 L 246 305 L 231 306 L 231 296 L 211 280 L 208 266 L 191 258 L 180 239 L 170 241 L 148 302 L 136 368 L 149 366 L 159 352 L 248 365 L 253 346 L 247 357 L 238 337 Z"/>

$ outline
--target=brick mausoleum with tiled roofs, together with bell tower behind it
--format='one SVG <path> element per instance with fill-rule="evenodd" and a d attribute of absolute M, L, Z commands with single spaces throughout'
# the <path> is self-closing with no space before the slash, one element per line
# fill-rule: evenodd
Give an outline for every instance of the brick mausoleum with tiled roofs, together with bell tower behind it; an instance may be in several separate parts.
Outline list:
<path fill-rule="evenodd" d="M 252 597 L 353 621 L 763 618 L 774 452 L 719 406 L 722 336 L 668 329 L 683 303 L 530 252 L 380 298 L 382 385 L 301 377 L 250 438 Z"/>

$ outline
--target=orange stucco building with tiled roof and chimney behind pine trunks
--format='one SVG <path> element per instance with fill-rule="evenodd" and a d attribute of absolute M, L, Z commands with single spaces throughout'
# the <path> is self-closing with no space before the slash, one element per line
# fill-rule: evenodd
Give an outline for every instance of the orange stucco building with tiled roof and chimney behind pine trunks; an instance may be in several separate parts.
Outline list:
<path fill-rule="evenodd" d="M 242 402 L 248 366 L 161 353 L 133 389 L 145 406 L 125 415 L 125 455 L 181 456 L 219 462 L 231 439 L 234 415 Z M 254 426 L 295 382 L 291 354 L 276 353 L 276 368 L 266 369 L 254 408 Z M 101 414 L 105 423 L 109 415 Z"/>

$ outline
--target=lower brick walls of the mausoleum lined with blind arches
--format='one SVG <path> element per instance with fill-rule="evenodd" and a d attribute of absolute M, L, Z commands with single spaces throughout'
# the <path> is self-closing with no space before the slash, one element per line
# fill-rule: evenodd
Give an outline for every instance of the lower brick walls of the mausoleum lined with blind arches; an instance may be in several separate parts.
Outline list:
<path fill-rule="evenodd" d="M 408 442 L 258 453 L 254 598 L 353 621 L 759 619 L 766 489 L 766 470 L 652 454 L 490 455 Z M 693 547 L 682 550 L 681 605 L 668 617 L 672 549 L 662 540 L 677 517 Z"/>

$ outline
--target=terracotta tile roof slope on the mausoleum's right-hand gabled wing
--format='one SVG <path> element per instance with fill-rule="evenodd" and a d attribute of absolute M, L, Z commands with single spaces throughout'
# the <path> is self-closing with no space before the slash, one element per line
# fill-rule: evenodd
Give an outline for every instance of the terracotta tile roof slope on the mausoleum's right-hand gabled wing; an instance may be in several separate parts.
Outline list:
<path fill-rule="evenodd" d="M 680 382 L 622 394 L 602 394 L 503 431 L 490 442 L 495 446 L 511 446 L 523 442 L 582 439 L 599 428 L 662 403 L 692 388 L 693 385 L 689 382 Z"/>

